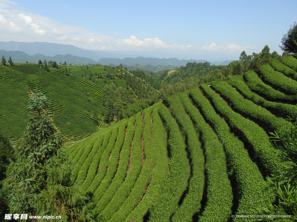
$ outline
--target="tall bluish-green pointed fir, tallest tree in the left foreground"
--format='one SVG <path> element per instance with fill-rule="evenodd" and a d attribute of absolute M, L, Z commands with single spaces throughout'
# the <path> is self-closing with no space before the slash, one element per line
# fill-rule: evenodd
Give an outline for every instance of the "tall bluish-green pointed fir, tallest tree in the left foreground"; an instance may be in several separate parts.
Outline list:
<path fill-rule="evenodd" d="M 8 168 L 10 211 L 34 215 L 33 204 L 37 194 L 44 189 L 46 172 L 43 166 L 49 163 L 50 156 L 57 149 L 54 143 L 54 126 L 47 110 L 49 103 L 44 95 L 36 92 L 31 95 L 28 111 L 29 120 L 23 139 L 15 148 L 17 160 Z"/>

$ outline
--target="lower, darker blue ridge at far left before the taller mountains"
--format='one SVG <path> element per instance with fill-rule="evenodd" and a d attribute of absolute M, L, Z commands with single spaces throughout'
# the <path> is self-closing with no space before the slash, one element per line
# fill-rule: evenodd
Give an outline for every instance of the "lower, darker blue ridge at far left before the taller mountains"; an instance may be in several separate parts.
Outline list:
<path fill-rule="evenodd" d="M 4 56 L 6 61 L 8 60 L 9 57 L 11 57 L 12 62 L 14 63 L 24 63 L 26 61 L 30 63 L 37 63 L 40 59 L 43 61 L 46 59 L 46 61 L 56 61 L 57 63 L 61 62 L 64 63 L 65 61 L 67 62 L 67 65 L 71 63 L 71 65 L 87 65 L 88 63 L 90 64 L 96 64 L 97 62 L 93 59 L 89 59 L 86 57 L 78 57 L 78 56 L 73 56 L 70 54 L 67 55 L 55 55 L 53 57 L 51 56 L 45 56 L 42 54 L 35 54 L 35 55 L 28 55 L 27 53 L 20 52 L 20 51 L 5 51 L 5 50 L 0 50 L 0 56 Z"/>

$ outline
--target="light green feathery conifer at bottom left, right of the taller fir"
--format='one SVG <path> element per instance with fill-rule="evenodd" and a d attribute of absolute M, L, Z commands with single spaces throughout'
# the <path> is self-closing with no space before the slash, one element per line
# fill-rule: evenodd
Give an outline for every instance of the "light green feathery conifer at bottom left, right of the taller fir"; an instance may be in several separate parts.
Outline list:
<path fill-rule="evenodd" d="M 90 197 L 80 191 L 80 184 L 74 184 L 71 180 L 74 166 L 75 164 L 65 157 L 64 149 L 58 149 L 57 155 L 51 157 L 51 164 L 45 167 L 47 172 L 45 189 L 38 194 L 34 204 L 39 214 L 50 215 L 55 212 L 61 216 L 60 221 L 63 222 L 94 221 L 91 210 L 94 205 L 86 204 Z"/>

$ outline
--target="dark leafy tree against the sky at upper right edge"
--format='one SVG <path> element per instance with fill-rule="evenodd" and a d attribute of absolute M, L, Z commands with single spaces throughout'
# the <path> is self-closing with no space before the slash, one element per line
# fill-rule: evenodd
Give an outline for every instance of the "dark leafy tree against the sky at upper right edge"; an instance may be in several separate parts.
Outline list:
<path fill-rule="evenodd" d="M 297 22 L 294 22 L 294 25 L 290 26 L 288 32 L 282 37 L 281 43 L 282 45 L 279 47 L 282 51 L 297 54 Z"/>

